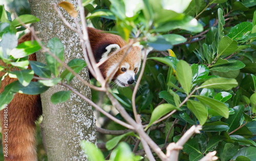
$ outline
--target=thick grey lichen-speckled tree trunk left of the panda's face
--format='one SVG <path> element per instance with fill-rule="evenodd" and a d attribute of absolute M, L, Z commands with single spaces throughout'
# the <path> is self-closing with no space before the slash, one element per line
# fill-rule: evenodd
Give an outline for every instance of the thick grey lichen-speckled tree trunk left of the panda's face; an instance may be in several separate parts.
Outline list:
<path fill-rule="evenodd" d="M 59 38 L 65 47 L 65 62 L 75 58 L 83 59 L 78 34 L 71 31 L 59 18 L 52 4 L 60 1 L 29 0 L 31 13 L 40 19 L 35 23 L 38 37 L 47 43 L 51 38 Z M 76 1 L 70 1 L 77 6 Z M 66 11 L 62 14 L 71 24 L 74 24 Z M 37 53 L 37 61 L 45 63 L 45 54 Z M 83 79 L 89 81 L 88 69 L 80 72 Z M 74 78 L 70 83 L 84 96 L 91 98 L 91 91 Z M 80 148 L 80 141 L 87 140 L 96 143 L 95 118 L 91 105 L 72 93 L 70 100 L 54 105 L 50 97 L 55 92 L 67 90 L 61 86 L 54 86 L 41 94 L 43 121 L 42 129 L 45 136 L 47 155 L 49 160 L 87 160 Z"/>

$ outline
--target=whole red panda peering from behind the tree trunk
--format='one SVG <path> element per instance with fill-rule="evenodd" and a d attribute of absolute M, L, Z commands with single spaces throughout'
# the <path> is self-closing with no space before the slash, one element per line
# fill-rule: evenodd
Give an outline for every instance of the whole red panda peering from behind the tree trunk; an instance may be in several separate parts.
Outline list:
<path fill-rule="evenodd" d="M 117 35 L 103 33 L 101 30 L 88 28 L 89 39 L 96 62 L 106 58 L 110 53 L 123 47 L 126 42 Z M 18 44 L 31 40 L 31 34 L 26 34 L 18 40 Z M 117 63 L 124 51 L 119 51 L 115 56 L 104 62 L 100 71 L 104 77 L 118 68 L 113 81 L 120 87 L 127 87 L 135 82 L 135 74 L 138 73 L 143 48 L 133 46 L 119 66 Z M 35 53 L 30 55 L 30 61 L 36 61 Z M 0 61 L 0 65 L 4 65 Z M 15 70 L 15 69 L 14 69 Z M 0 76 L 5 73 L 0 71 Z M 0 93 L 4 87 L 16 81 L 14 78 L 6 77 L 2 82 Z M 15 94 L 13 100 L 8 104 L 8 128 L 5 126 L 4 110 L 0 111 L 0 121 L 3 134 L 3 150 L 8 151 L 5 160 L 30 161 L 37 160 L 35 149 L 35 121 L 42 114 L 41 100 L 39 95 Z M 4 140 L 4 132 L 8 132 L 8 143 Z"/>

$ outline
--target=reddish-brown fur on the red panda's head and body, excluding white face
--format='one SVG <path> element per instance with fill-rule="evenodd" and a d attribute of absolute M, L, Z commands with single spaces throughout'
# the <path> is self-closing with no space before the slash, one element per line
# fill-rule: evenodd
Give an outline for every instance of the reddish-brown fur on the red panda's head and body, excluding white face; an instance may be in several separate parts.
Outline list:
<path fill-rule="evenodd" d="M 94 54 L 104 44 L 118 44 L 120 47 L 126 45 L 126 42 L 117 35 L 102 33 L 101 30 L 89 28 L 89 38 Z M 26 34 L 18 40 L 18 44 L 31 40 L 31 34 Z M 100 70 L 103 76 L 106 76 L 106 69 L 117 63 L 120 56 L 123 55 L 124 51 L 120 51 L 103 63 L 100 66 Z M 129 54 L 124 58 L 121 65 L 126 62 L 134 65 L 136 62 L 141 61 L 141 55 L 138 53 L 141 49 L 135 46 L 131 49 Z M 35 53 L 30 55 L 29 60 L 36 61 Z M 0 65 L 4 66 L 4 63 L 0 61 Z M 120 65 L 120 66 L 121 66 Z M 13 70 L 17 70 L 14 68 Z M 137 69 L 138 71 L 138 69 Z M 135 71 L 135 72 L 137 72 Z M 115 77 L 123 73 L 120 68 L 118 69 Z M 0 71 L 0 76 L 5 73 Z M 2 82 L 0 93 L 4 91 L 4 87 L 8 84 L 16 81 L 14 78 L 6 77 Z M 26 94 L 15 94 L 11 103 L 8 104 L 8 128 L 4 126 L 4 110 L 0 111 L 1 127 L 3 133 L 3 147 L 5 148 L 8 144 L 8 157 L 5 160 L 17 160 L 17 161 L 32 161 L 37 159 L 35 149 L 35 121 L 41 115 L 41 100 L 39 95 L 26 95 Z M 8 143 L 5 143 L 4 132 L 8 131 Z M 4 149 L 5 150 L 5 149 Z"/>

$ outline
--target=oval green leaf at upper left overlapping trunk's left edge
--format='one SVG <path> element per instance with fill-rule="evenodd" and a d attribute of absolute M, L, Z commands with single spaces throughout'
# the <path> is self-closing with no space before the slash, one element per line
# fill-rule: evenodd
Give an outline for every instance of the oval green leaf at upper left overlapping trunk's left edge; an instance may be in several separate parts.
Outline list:
<path fill-rule="evenodd" d="M 21 26 L 22 23 L 28 24 L 28 23 L 33 23 L 33 22 L 38 22 L 39 18 L 33 16 L 33 15 L 21 15 L 15 18 L 11 24 L 17 28 L 18 26 Z"/>

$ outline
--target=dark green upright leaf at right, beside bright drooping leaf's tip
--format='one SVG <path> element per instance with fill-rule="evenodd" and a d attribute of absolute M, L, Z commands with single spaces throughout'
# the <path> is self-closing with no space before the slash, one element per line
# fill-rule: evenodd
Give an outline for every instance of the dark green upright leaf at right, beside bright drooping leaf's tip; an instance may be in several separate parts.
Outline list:
<path fill-rule="evenodd" d="M 227 132 L 231 132 L 240 126 L 240 120 L 244 112 L 244 105 L 235 106 L 233 110 L 234 114 L 230 115 L 225 121 L 229 125 L 229 130 Z"/>

